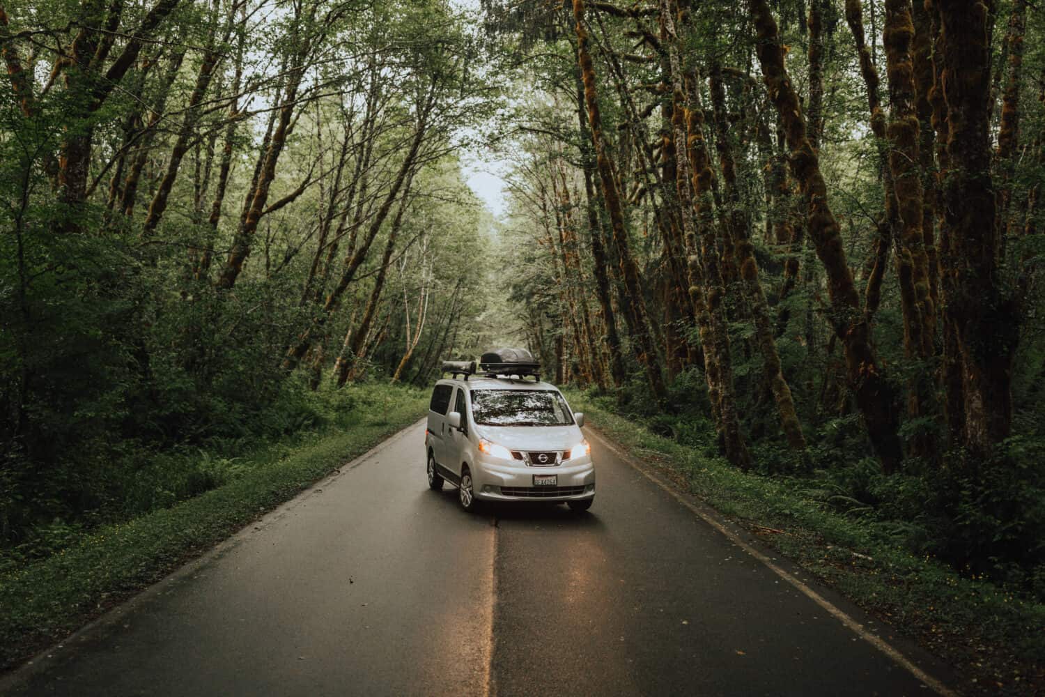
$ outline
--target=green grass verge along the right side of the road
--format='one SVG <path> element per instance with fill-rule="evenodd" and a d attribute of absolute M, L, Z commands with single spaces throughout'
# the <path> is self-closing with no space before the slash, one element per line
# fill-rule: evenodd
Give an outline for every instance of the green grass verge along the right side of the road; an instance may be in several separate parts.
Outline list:
<path fill-rule="evenodd" d="M 571 405 L 681 489 L 950 663 L 970 694 L 1045 691 L 1045 605 L 918 557 L 876 521 L 808 495 L 802 479 L 744 473 L 567 392 Z"/>

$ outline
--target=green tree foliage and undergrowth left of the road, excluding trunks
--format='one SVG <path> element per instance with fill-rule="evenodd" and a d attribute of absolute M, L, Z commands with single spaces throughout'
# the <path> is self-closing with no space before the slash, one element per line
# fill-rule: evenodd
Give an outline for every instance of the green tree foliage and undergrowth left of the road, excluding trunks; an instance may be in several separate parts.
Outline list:
<path fill-rule="evenodd" d="M 498 83 L 475 70 L 480 48 L 451 5 L 314 2 L 272 13 L 264 1 L 181 3 L 145 37 L 122 78 L 104 83 L 108 96 L 92 86 L 109 80 L 145 6 L 113 10 L 117 30 L 106 34 L 112 50 L 99 49 L 90 65 L 60 61 L 46 83 L 43 63 L 30 59 L 65 56 L 76 32 L 92 29 L 80 18 L 88 8 L 5 5 L 4 31 L 20 36 L 5 40 L 4 55 L 23 61 L 28 83 L 27 93 L 16 93 L 9 79 L 0 90 L 0 558 L 15 562 L 52 554 L 66 531 L 95 530 L 234 482 L 243 459 L 265 444 L 353 427 L 348 415 L 365 394 L 329 394 L 325 385 L 317 392 L 281 362 L 312 331 L 326 375 L 351 318 L 362 313 L 379 258 L 373 250 L 388 238 L 391 216 L 339 311 L 320 317 L 320 307 L 346 248 L 358 247 L 390 191 L 429 91 L 396 249 L 411 264 L 390 274 L 378 312 L 384 333 L 367 358 L 372 372 L 391 373 L 402 355 L 398 298 L 415 292 L 417 269 L 438 266 L 428 288 L 438 321 L 425 327 L 420 365 L 409 367 L 419 384 L 442 357 L 441 343 L 451 346 L 455 324 L 481 310 L 475 296 L 486 280 L 468 273 L 469 251 L 488 220 L 477 212 L 457 153 L 467 140 L 463 130 L 496 103 Z M 26 40 L 32 37 L 40 39 Z M 248 49 L 237 52 L 248 37 Z M 194 110 L 189 95 L 208 46 L 218 63 Z M 304 62 L 300 69 L 291 69 L 295 56 Z M 293 88 L 270 210 L 238 282 L 219 289 L 214 277 L 243 228 L 255 164 L 273 152 L 261 134 L 282 114 L 257 106 L 278 106 L 292 91 L 292 74 L 302 79 Z M 20 101 L 23 94 L 31 100 Z M 364 124 L 367 103 L 376 116 Z M 183 126 L 187 141 L 179 139 Z M 222 200 L 226 137 L 231 175 Z M 60 161 L 74 138 L 86 140 L 88 153 L 82 194 Z M 182 146 L 178 177 L 163 189 Z M 347 173 L 334 187 L 339 153 Z M 372 155 L 367 168 L 364 153 Z M 124 201 L 139 156 L 137 195 Z M 353 170 L 365 186 L 349 186 Z M 146 230 L 143 218 L 160 191 L 169 196 L 166 213 Z M 219 201 L 222 215 L 211 225 Z M 331 226 L 330 234 L 339 235 L 339 253 L 317 240 L 316 219 L 342 209 L 346 226 Z M 417 261 L 422 237 L 436 253 Z M 212 252 L 209 268 L 200 263 L 204 250 Z M 326 264 L 315 274 L 314 258 Z M 303 293 L 314 276 L 319 303 Z M 462 278 L 451 305 L 449 288 Z"/>

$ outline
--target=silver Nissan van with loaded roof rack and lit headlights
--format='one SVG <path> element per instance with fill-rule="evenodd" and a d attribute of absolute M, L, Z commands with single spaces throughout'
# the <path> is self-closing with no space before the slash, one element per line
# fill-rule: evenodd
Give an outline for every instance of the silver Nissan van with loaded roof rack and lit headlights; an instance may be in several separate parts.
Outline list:
<path fill-rule="evenodd" d="M 462 508 L 481 501 L 545 501 L 586 511 L 595 501 L 591 446 L 529 351 L 501 349 L 444 364 L 424 436 L 428 486 L 458 487 Z M 460 377 L 459 377 L 460 375 Z"/>

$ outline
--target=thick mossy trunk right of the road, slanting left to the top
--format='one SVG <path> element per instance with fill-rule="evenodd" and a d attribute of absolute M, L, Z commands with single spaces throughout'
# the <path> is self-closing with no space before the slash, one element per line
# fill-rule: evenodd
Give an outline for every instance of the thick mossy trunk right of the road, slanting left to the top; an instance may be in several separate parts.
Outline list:
<path fill-rule="evenodd" d="M 754 20 L 762 74 L 784 123 L 791 167 L 810 201 L 809 235 L 828 275 L 830 321 L 845 348 L 850 387 L 864 418 L 875 454 L 883 468 L 896 471 L 903 459 L 898 436 L 896 395 L 870 343 L 870 327 L 860 311 L 860 298 L 842 248 L 838 220 L 828 203 L 827 185 L 816 153 L 806 136 L 798 95 L 784 66 L 776 22 L 766 0 L 748 0 Z"/>

